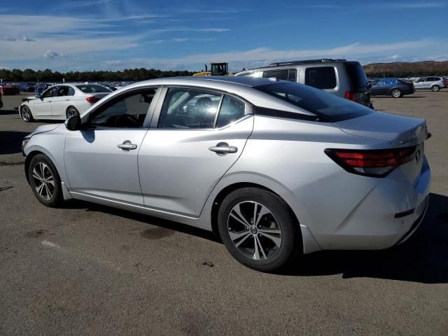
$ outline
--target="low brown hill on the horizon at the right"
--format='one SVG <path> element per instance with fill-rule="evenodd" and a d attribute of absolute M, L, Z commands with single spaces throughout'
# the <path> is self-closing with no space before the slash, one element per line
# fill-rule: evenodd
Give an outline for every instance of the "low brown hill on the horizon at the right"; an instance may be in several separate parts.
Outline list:
<path fill-rule="evenodd" d="M 373 78 L 448 75 L 448 61 L 372 63 L 365 65 L 364 70 Z"/>

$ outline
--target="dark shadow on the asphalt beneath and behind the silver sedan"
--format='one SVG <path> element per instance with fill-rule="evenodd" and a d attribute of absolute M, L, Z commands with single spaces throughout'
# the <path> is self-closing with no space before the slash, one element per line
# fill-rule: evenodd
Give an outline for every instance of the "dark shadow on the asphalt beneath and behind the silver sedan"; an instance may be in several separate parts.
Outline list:
<path fill-rule="evenodd" d="M 73 200 L 66 202 L 64 208 L 101 211 L 221 242 L 219 237 L 207 230 L 100 204 Z M 431 193 L 423 222 L 414 235 L 404 243 L 380 251 L 319 251 L 302 255 L 297 263 L 277 274 L 284 276 L 342 274 L 343 279 L 369 277 L 420 283 L 448 283 L 447 255 L 448 197 Z"/>

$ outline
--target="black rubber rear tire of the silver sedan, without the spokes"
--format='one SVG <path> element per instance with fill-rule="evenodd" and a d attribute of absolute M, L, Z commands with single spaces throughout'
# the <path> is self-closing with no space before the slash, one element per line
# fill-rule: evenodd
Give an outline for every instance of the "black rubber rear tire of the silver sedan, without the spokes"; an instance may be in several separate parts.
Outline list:
<path fill-rule="evenodd" d="M 244 241 L 244 239 L 240 239 L 239 241 L 237 241 L 237 239 L 234 238 L 234 243 L 234 241 L 232 241 L 232 239 L 230 238 L 230 231 L 232 230 L 231 226 L 235 225 L 235 223 L 237 225 L 241 225 L 242 222 L 235 222 L 235 217 L 231 217 L 230 212 L 234 211 L 234 207 L 239 207 L 238 209 L 241 209 L 240 214 L 242 214 L 244 212 L 244 209 L 242 209 L 238 204 L 247 204 L 244 205 L 246 207 L 248 207 L 250 204 L 258 204 L 258 206 L 256 206 L 258 210 L 255 210 L 255 212 L 258 211 L 258 214 L 255 216 L 260 216 L 263 209 L 262 207 L 268 209 L 269 214 L 262 215 L 258 218 L 259 222 L 257 222 L 260 224 L 255 227 L 255 233 L 252 231 L 253 227 L 249 229 L 247 225 L 244 225 L 244 235 L 247 235 L 248 237 L 244 238 L 245 236 L 241 235 L 241 238 L 247 240 Z M 260 208 L 260 206 L 262 207 Z M 252 209 L 254 208 L 255 207 L 252 206 Z M 235 212 L 233 212 L 233 214 L 235 214 Z M 246 214 L 249 214 L 250 216 L 250 209 L 246 211 Z M 274 221 L 267 221 L 266 216 L 271 215 L 272 217 L 270 218 L 274 218 Z M 253 217 L 254 215 L 252 213 L 252 219 L 250 220 L 251 225 L 253 225 Z M 267 225 L 270 226 L 261 225 L 262 222 L 266 221 Z M 267 244 L 269 244 L 270 239 L 265 238 L 265 235 L 262 235 L 262 233 L 260 232 L 266 232 L 262 231 L 262 229 L 272 230 L 269 229 L 272 228 L 272 225 L 274 225 L 274 230 L 278 230 L 278 228 L 281 230 L 281 243 L 280 246 L 272 244 L 274 245 L 274 247 L 269 248 L 269 245 Z M 256 228 L 259 228 L 258 230 L 260 231 L 257 231 Z M 279 270 L 283 267 L 286 267 L 286 265 L 289 265 L 291 262 L 297 260 L 297 257 L 301 255 L 303 251 L 300 225 L 295 220 L 293 214 L 291 214 L 288 205 L 283 200 L 281 200 L 279 196 L 270 193 L 267 190 L 259 188 L 241 188 L 233 191 L 227 197 L 225 197 L 218 211 L 218 230 L 225 247 L 235 259 L 237 259 L 239 262 L 241 262 L 241 264 L 246 265 L 247 267 L 262 272 L 272 272 L 274 270 Z M 258 241 L 260 242 L 260 245 L 257 245 L 258 250 L 263 250 L 263 255 L 265 255 L 266 252 L 265 258 L 263 258 L 260 252 L 258 252 L 258 255 L 262 257 L 261 260 L 254 259 L 254 242 L 256 242 L 257 239 L 259 239 Z M 268 247 L 267 249 L 262 247 L 262 239 L 264 239 L 263 244 Z M 236 246 L 240 241 L 242 241 L 242 244 L 240 244 L 239 246 L 244 246 L 244 244 L 249 246 L 245 250 L 249 255 L 252 251 L 250 246 L 254 246 L 254 253 L 252 255 L 252 258 L 248 256 L 245 251 L 241 251 L 241 247 Z M 273 243 L 274 241 L 271 242 Z M 260 246 L 261 248 L 258 246 Z M 272 256 L 269 256 L 272 251 L 274 251 L 274 253 L 272 254 Z"/>

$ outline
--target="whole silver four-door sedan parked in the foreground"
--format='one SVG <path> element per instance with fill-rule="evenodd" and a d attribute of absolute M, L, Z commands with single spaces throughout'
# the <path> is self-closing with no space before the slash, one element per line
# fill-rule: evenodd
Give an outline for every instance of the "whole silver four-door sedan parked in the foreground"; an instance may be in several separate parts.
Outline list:
<path fill-rule="evenodd" d="M 405 241 L 428 205 L 425 120 L 275 78 L 123 87 L 22 144 L 34 195 L 167 218 L 272 271 L 302 253 Z"/>

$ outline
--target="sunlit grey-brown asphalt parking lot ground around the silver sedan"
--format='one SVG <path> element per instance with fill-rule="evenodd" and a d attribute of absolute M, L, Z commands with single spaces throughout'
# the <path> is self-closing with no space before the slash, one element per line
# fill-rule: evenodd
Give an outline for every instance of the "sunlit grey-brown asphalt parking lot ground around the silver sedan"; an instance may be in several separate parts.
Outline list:
<path fill-rule="evenodd" d="M 430 206 L 405 244 L 306 255 L 283 274 L 240 265 L 211 233 L 86 202 L 43 207 L 0 109 L 0 335 L 448 335 L 448 90 L 374 97 L 426 118 Z"/>

